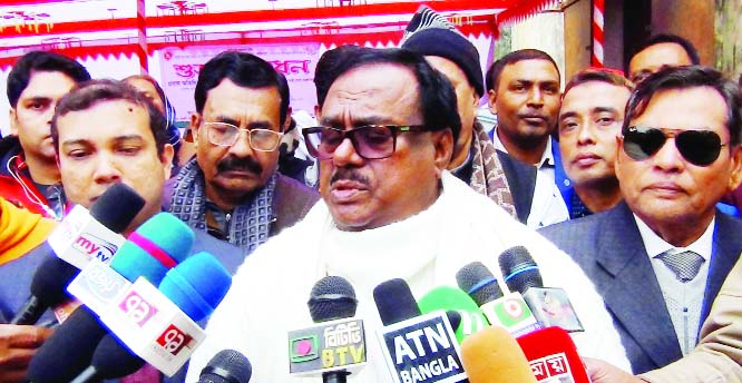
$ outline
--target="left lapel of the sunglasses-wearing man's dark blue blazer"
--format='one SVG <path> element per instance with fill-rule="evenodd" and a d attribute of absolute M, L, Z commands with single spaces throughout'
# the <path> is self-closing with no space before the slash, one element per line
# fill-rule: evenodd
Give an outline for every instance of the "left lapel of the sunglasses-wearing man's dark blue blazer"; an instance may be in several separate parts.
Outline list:
<path fill-rule="evenodd" d="M 603 298 L 640 347 L 664 366 L 682 353 L 636 222 L 622 203 L 601 225 L 596 262 L 606 273 Z"/>

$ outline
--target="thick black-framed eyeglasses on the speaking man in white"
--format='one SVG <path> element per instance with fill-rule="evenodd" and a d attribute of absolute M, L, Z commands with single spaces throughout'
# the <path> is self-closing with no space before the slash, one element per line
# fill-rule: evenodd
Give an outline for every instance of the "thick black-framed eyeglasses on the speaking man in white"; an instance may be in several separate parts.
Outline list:
<path fill-rule="evenodd" d="M 400 132 L 427 130 L 423 125 L 367 125 L 348 130 L 319 126 L 305 128 L 302 134 L 310 155 L 319 159 L 332 158 L 345 137 L 362 158 L 381 159 L 394 154 Z"/>

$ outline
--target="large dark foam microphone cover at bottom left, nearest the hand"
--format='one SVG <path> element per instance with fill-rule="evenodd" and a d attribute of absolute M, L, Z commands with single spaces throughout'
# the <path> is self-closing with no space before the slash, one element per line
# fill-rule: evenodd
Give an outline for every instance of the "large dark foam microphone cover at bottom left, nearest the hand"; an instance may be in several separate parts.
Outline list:
<path fill-rule="evenodd" d="M 28 381 L 70 382 L 90 365 L 106 328 L 88 307 L 79 306 L 39 347 L 28 367 Z"/>

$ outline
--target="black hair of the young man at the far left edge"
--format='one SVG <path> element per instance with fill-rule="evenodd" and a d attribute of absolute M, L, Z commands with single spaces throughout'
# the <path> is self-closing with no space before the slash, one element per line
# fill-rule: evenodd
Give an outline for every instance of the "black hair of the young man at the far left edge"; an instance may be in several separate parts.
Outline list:
<path fill-rule="evenodd" d="M 18 106 L 18 99 L 28 84 L 31 81 L 31 75 L 36 71 L 58 71 L 65 73 L 75 82 L 82 82 L 90 79 L 90 73 L 85 67 L 70 59 L 55 52 L 32 51 L 23 55 L 10 70 L 8 75 L 8 102 L 11 108 Z"/>

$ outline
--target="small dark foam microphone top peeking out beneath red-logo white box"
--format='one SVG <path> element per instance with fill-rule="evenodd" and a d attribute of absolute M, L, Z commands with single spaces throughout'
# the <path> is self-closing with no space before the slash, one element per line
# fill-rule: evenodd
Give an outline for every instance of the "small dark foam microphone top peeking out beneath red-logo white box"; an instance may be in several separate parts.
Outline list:
<path fill-rule="evenodd" d="M 145 361 L 108 334 L 100 340 L 90 365 L 100 379 L 117 379 L 137 372 Z"/>

